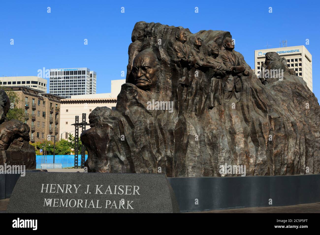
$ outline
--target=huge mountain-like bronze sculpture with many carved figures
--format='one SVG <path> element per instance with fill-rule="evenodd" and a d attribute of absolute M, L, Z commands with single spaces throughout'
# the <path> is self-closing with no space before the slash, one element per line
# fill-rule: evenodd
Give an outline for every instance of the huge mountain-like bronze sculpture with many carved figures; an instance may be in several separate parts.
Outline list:
<path fill-rule="evenodd" d="M 264 85 L 231 38 L 225 31 L 192 34 L 136 23 L 116 110 L 93 110 L 92 127 L 81 135 L 89 171 L 239 176 L 219 171 L 227 164 L 246 166 L 247 176 L 318 174 L 317 99 L 289 71 L 282 81 Z M 143 57 L 148 68 L 138 63 Z M 157 79 L 145 80 L 152 67 Z M 148 109 L 152 100 L 173 102 L 173 112 Z"/>

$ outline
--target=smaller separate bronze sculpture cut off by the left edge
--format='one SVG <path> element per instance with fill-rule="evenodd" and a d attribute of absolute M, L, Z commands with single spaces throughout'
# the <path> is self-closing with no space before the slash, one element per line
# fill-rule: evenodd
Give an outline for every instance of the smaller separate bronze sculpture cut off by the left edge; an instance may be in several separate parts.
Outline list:
<path fill-rule="evenodd" d="M 29 144 L 30 128 L 18 120 L 6 120 L 10 99 L 0 89 L 0 165 L 25 165 L 26 169 L 36 169 L 36 151 Z"/>

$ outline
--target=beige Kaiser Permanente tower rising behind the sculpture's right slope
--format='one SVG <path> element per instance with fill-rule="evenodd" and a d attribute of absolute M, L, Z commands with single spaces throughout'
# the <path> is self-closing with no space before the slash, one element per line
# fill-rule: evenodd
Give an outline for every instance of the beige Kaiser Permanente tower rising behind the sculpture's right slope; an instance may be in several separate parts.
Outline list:
<path fill-rule="evenodd" d="M 254 51 L 254 70 L 258 76 L 260 67 L 265 61 L 265 54 L 276 51 L 287 60 L 287 66 L 295 70 L 296 75 L 303 78 L 308 88 L 312 91 L 312 56 L 305 46 L 290 46 L 270 48 Z"/>

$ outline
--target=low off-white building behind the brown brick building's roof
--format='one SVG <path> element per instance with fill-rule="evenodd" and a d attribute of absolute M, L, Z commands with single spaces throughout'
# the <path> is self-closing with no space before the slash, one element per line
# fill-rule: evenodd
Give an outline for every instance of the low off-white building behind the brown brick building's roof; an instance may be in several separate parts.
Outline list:
<path fill-rule="evenodd" d="M 1 86 L 26 86 L 47 93 L 47 80 L 37 76 L 2 77 Z"/>

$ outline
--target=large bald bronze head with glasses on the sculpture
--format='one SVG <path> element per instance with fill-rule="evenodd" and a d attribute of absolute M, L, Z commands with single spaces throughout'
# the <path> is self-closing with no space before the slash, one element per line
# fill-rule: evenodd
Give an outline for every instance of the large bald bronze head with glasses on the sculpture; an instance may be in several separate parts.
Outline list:
<path fill-rule="evenodd" d="M 134 59 L 132 75 L 134 84 L 141 90 L 150 90 L 158 82 L 159 65 L 155 53 L 151 49 L 141 51 Z"/>

